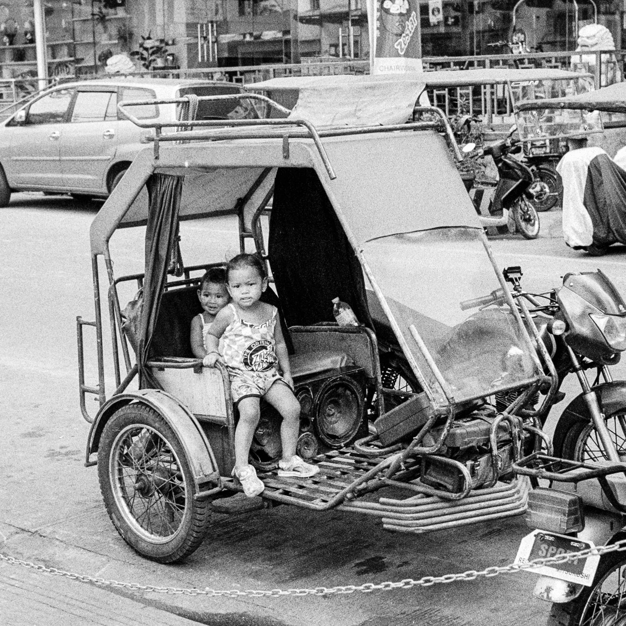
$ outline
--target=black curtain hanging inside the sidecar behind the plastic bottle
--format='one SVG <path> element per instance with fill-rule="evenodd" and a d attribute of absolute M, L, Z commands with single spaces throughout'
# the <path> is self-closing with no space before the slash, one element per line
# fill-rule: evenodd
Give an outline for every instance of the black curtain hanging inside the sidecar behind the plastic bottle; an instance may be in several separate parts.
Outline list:
<path fill-rule="evenodd" d="M 278 169 L 268 252 L 287 326 L 334 322 L 339 297 L 373 329 L 361 264 L 315 170 Z"/>

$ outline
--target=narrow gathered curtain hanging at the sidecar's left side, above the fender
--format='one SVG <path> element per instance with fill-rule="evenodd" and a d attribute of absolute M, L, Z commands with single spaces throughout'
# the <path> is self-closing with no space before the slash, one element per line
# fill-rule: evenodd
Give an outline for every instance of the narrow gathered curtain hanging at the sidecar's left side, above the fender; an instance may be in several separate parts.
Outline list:
<path fill-rule="evenodd" d="M 176 237 L 178 209 L 183 190 L 183 177 L 153 174 L 148 183 L 148 225 L 146 227 L 146 262 L 143 281 L 143 309 L 138 338 L 140 387 L 158 387 L 145 363 L 158 316 L 163 285 L 167 278 L 172 246 Z"/>

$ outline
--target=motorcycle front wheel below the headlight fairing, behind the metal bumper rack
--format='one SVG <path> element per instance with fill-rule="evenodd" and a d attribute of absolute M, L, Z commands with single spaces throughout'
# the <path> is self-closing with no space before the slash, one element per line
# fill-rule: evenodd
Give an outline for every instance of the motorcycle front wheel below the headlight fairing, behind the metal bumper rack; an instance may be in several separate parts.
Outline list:
<path fill-rule="evenodd" d="M 626 416 L 626 406 L 617 409 L 605 419 L 617 453 L 621 457 L 626 456 L 626 434 L 622 431 L 618 416 Z M 560 458 L 585 463 L 607 459 L 600 447 L 598 433 L 590 421 L 581 419 L 563 421 L 560 419 L 555 430 L 554 441 L 555 456 Z"/>

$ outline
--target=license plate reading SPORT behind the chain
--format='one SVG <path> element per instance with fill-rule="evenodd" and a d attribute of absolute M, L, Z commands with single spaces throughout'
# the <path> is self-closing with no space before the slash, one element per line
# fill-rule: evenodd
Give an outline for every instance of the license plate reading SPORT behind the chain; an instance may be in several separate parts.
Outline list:
<path fill-rule="evenodd" d="M 581 541 L 575 537 L 548 533 L 545 530 L 533 530 L 530 535 L 526 535 L 521 540 L 515 563 L 528 563 L 536 558 L 558 557 L 588 548 L 595 548 L 595 545 L 591 541 Z M 541 567 L 533 567 L 526 571 L 591 587 L 599 562 L 598 555 L 590 555 L 565 563 L 541 565 Z"/>

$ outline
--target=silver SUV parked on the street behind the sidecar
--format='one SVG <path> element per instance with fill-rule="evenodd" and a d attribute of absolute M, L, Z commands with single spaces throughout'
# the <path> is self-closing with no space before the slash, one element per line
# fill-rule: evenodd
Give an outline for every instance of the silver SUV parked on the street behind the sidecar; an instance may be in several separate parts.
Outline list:
<path fill-rule="evenodd" d="M 148 131 L 118 115 L 118 101 L 243 93 L 232 83 L 203 80 L 105 78 L 66 83 L 36 96 L 0 123 L 0 207 L 13 191 L 106 197 Z M 143 120 L 176 121 L 178 105 L 135 106 Z M 197 120 L 258 117 L 235 100 L 200 101 Z"/>

